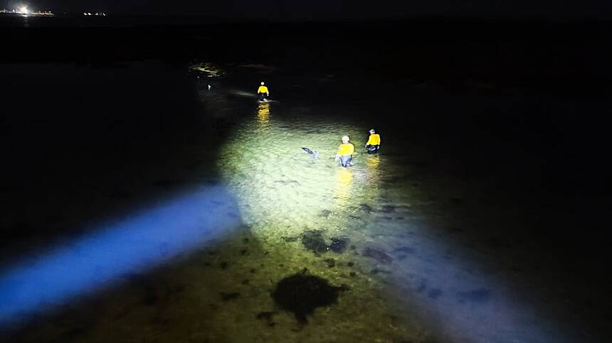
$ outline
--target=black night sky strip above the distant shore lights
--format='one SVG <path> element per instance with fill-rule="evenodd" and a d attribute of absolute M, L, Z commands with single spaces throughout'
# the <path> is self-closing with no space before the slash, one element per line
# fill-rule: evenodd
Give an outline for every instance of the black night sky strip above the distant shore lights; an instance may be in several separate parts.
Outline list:
<path fill-rule="evenodd" d="M 21 0 L 0 0 L 13 8 Z M 32 9 L 185 14 L 271 20 L 414 18 L 612 18 L 612 0 L 23 0 Z"/>

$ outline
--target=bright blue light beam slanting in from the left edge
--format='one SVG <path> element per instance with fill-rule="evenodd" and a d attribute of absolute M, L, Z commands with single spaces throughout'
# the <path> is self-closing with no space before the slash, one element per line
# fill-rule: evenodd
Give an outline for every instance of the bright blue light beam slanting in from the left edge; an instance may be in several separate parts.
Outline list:
<path fill-rule="evenodd" d="M 0 326 L 149 271 L 240 225 L 233 197 L 216 186 L 92 227 L 0 271 Z"/>

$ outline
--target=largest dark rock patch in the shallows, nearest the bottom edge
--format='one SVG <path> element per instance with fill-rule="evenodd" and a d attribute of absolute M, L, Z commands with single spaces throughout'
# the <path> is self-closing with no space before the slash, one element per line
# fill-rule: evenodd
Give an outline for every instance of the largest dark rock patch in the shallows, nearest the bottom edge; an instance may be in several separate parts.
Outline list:
<path fill-rule="evenodd" d="M 317 307 L 336 303 L 338 293 L 344 287 L 334 287 L 317 276 L 297 273 L 283 278 L 272 293 L 274 301 L 282 308 L 293 312 L 300 324 L 306 324 L 307 315 Z"/>

